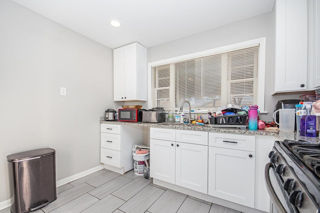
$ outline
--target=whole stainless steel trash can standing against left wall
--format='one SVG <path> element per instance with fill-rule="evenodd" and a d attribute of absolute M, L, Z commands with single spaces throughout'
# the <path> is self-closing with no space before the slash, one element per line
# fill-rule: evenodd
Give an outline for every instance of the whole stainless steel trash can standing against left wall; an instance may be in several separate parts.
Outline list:
<path fill-rule="evenodd" d="M 55 150 L 40 148 L 6 156 L 11 212 L 29 212 L 56 199 Z"/>

